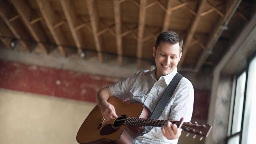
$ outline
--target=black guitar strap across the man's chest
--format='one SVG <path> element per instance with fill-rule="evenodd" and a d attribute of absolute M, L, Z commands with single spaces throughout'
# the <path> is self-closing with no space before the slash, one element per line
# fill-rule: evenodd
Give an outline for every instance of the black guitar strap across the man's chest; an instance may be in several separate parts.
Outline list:
<path fill-rule="evenodd" d="M 164 91 L 164 94 L 162 95 L 162 97 L 160 98 L 160 100 L 158 101 L 155 109 L 153 110 L 151 116 L 149 116 L 150 119 L 158 119 L 162 112 L 164 111 L 164 108 L 166 107 L 167 103 L 169 102 L 169 100 L 172 97 L 172 94 L 174 92 L 174 90 L 176 89 L 177 85 L 179 84 L 181 78 L 183 76 L 180 75 L 179 73 L 177 73 L 172 81 L 170 82 L 170 84 L 167 86 L 166 90 Z M 141 134 L 146 134 L 148 133 L 153 127 L 152 126 L 145 126 L 145 129 L 141 132 Z"/>

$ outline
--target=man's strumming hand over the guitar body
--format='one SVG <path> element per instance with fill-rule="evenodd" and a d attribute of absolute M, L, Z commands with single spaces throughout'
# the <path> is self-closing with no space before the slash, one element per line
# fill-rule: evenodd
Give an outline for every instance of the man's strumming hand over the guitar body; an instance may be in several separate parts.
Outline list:
<path fill-rule="evenodd" d="M 103 102 L 99 106 L 101 114 L 106 120 L 109 121 L 118 117 L 116 115 L 115 107 L 111 105 L 107 100 L 103 100 Z"/>

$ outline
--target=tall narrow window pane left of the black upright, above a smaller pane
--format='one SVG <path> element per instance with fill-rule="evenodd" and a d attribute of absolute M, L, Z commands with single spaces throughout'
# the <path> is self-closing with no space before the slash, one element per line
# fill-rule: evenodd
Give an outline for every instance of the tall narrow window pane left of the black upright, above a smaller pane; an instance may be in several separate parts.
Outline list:
<path fill-rule="evenodd" d="M 236 132 L 240 132 L 241 130 L 242 112 L 243 112 L 243 104 L 244 104 L 245 79 L 246 79 L 245 72 L 237 78 L 232 134 L 235 134 Z"/>

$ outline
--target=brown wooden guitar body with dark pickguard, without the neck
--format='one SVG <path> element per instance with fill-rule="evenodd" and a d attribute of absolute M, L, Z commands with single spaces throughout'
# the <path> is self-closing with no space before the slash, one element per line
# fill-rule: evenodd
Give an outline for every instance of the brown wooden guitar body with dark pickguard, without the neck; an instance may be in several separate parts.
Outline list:
<path fill-rule="evenodd" d="M 110 97 L 108 102 L 115 107 L 117 116 L 148 117 L 148 110 L 140 103 L 127 104 L 116 97 Z M 131 144 L 137 136 L 141 135 L 142 130 L 142 126 L 118 125 L 115 120 L 104 120 L 97 105 L 84 120 L 77 132 L 76 140 L 80 144 Z"/>

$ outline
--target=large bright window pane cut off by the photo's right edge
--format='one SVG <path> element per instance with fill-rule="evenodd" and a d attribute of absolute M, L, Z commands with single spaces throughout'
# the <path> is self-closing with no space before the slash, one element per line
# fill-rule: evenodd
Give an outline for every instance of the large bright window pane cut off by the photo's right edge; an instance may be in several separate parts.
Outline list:
<path fill-rule="evenodd" d="M 244 127 L 242 143 L 255 143 L 256 119 L 256 57 L 249 64 L 248 82 L 246 90 L 246 103 L 244 112 Z"/>

